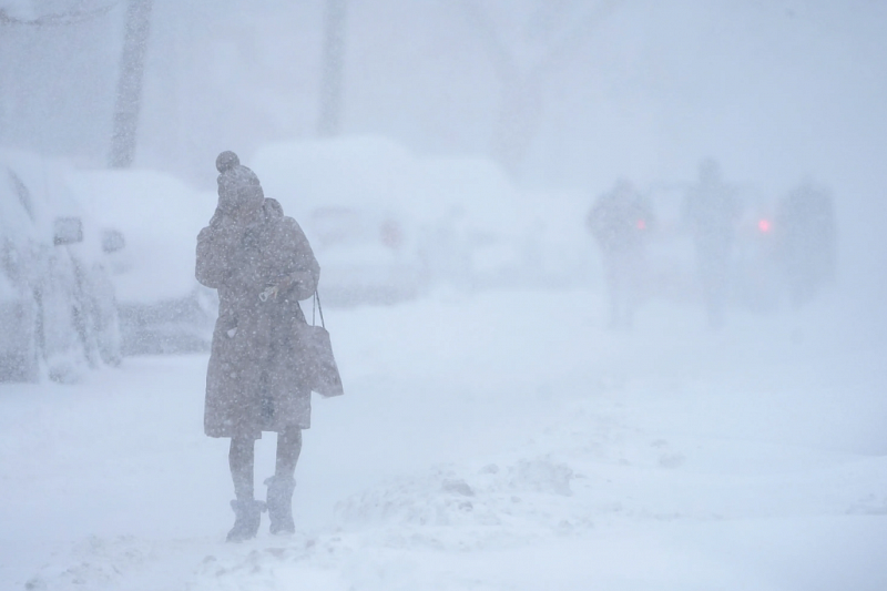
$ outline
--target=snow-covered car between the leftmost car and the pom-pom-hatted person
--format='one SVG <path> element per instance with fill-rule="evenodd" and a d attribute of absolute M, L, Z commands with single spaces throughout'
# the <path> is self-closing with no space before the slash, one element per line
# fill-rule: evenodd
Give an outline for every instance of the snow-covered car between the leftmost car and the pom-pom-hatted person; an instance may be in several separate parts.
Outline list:
<path fill-rule="evenodd" d="M 104 228 L 124 355 L 208 350 L 218 312 L 194 277 L 197 233 L 216 196 L 154 171 L 79 171 L 80 200 Z M 119 247 L 115 247 L 119 246 Z"/>

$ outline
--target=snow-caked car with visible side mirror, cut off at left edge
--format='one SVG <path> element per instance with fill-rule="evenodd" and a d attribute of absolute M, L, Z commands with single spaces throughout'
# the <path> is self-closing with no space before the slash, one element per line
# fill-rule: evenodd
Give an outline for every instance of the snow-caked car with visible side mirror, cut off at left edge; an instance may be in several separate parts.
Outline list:
<path fill-rule="evenodd" d="M 0 379 L 71 383 L 120 363 L 101 234 L 65 165 L 0 151 Z"/>

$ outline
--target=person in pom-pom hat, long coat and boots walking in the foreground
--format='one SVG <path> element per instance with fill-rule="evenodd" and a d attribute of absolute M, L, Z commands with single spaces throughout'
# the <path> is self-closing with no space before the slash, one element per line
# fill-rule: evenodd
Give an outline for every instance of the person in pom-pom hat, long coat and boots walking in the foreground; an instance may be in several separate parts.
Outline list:
<path fill-rule="evenodd" d="M 218 319 L 206 374 L 204 430 L 230 437 L 236 514 L 228 541 L 253 538 L 265 503 L 253 497 L 254 442 L 276 431 L 268 485 L 272 533 L 295 530 L 293 475 L 302 429 L 310 427 L 299 299 L 314 294 L 320 267 L 302 228 L 265 198 L 258 177 L 233 152 L 216 160 L 218 207 L 197 236 L 196 276 L 218 291 Z"/>

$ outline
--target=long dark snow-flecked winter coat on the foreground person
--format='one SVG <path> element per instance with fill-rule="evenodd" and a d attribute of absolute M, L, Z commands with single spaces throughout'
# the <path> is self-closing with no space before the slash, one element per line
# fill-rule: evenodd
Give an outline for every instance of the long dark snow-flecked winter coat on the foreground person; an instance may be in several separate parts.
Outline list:
<path fill-rule="evenodd" d="M 211 437 L 261 438 L 262 431 L 310 427 L 298 299 L 317 286 L 320 267 L 302 228 L 266 198 L 261 220 L 236 227 L 220 211 L 197 236 L 197 281 L 218 289 L 218 319 L 206 373 L 204 430 Z M 281 277 L 308 281 L 264 302 Z"/>

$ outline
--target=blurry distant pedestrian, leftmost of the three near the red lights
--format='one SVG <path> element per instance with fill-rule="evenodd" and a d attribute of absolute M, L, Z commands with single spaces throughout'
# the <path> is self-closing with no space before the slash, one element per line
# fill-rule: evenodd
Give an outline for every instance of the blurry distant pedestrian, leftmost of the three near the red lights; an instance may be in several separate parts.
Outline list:
<path fill-rule="evenodd" d="M 630 328 L 634 322 L 643 298 L 652 223 L 646 200 L 624 180 L 598 197 L 585 220 L 603 257 L 611 328 Z"/>

